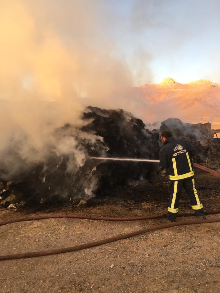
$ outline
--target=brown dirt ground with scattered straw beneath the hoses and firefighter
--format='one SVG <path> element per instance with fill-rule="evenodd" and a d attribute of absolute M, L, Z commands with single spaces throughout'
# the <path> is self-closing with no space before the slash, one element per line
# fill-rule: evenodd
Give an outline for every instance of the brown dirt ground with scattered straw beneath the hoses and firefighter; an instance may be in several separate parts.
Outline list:
<path fill-rule="evenodd" d="M 219 171 L 219 170 L 218 170 Z M 205 210 L 219 209 L 220 180 L 196 170 Z M 117 196 L 116 196 L 117 195 Z M 169 194 L 163 182 L 144 183 L 91 199 L 82 207 L 0 209 L 0 220 L 48 214 L 134 217 L 164 214 Z M 191 212 L 182 194 L 180 212 Z M 217 218 L 219 215 L 208 215 Z M 179 218 L 179 220 L 195 217 Z M 45 219 L 0 227 L 1 255 L 57 249 L 109 238 L 167 222 L 153 219 L 105 222 Z M 220 223 L 171 227 L 72 253 L 0 263 L 0 292 L 220 292 Z"/>

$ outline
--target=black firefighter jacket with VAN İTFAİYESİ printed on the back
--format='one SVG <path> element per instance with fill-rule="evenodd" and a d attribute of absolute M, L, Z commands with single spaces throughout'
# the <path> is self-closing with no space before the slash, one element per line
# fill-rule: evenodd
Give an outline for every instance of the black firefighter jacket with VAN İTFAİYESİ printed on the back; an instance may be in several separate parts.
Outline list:
<path fill-rule="evenodd" d="M 170 180 L 193 177 L 192 158 L 196 153 L 196 148 L 187 140 L 169 137 L 160 149 L 160 164 L 169 168 Z"/>

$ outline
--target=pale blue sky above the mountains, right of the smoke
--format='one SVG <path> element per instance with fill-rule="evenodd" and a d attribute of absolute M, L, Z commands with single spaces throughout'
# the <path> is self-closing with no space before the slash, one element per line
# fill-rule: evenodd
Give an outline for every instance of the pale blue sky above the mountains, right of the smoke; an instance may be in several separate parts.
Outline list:
<path fill-rule="evenodd" d="M 148 56 L 142 60 L 147 66 L 140 82 L 158 83 L 168 76 L 180 83 L 220 82 L 220 1 L 101 3 L 110 15 L 108 30 L 119 47 L 117 53 L 132 66 L 136 52 Z"/>

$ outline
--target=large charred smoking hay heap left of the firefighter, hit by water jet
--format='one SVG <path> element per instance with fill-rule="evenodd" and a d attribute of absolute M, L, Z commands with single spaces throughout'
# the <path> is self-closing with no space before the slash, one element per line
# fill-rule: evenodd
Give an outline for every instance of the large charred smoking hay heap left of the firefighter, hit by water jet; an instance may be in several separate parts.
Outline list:
<path fill-rule="evenodd" d="M 121 109 L 88 107 L 82 119 L 82 127 L 66 124 L 54 130 L 53 144 L 47 146 L 50 152 L 43 161 L 10 178 L 7 173 L 7 179 L 14 183 L 2 193 L 4 201 L 11 194 L 15 195 L 13 203 L 26 201 L 28 205 L 63 202 L 70 197 L 89 199 L 124 186 L 129 179 L 150 179 L 152 163 L 98 161 L 89 156 L 158 158 L 157 132 L 146 130 L 142 120 Z M 68 149 L 69 144 L 72 149 Z M 57 145 L 62 145 L 60 151 Z"/>

